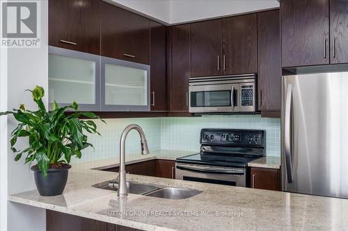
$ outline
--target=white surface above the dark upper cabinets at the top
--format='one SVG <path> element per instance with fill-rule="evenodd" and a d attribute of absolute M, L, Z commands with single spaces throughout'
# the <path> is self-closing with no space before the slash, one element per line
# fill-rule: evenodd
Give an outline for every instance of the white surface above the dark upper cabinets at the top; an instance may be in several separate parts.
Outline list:
<path fill-rule="evenodd" d="M 166 24 L 278 8 L 277 0 L 104 0 Z"/>

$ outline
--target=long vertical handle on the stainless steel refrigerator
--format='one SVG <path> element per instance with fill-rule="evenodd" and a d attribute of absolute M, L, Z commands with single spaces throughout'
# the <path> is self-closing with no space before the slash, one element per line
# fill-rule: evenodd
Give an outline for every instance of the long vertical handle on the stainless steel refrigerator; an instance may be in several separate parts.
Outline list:
<path fill-rule="evenodd" d="M 285 165 L 287 171 L 287 182 L 292 183 L 291 164 L 291 106 L 292 106 L 292 85 L 287 85 L 285 101 Z"/>

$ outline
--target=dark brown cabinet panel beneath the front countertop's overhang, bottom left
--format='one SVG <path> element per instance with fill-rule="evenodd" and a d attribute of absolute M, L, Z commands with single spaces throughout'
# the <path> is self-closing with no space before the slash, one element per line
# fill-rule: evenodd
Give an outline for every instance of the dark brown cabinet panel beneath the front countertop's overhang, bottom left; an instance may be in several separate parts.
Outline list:
<path fill-rule="evenodd" d="M 121 225 L 46 209 L 46 231 L 137 231 Z"/>

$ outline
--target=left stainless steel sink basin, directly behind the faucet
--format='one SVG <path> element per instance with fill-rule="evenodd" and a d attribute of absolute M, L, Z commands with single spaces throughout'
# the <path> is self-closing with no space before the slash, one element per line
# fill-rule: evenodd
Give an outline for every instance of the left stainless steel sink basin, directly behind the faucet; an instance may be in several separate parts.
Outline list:
<path fill-rule="evenodd" d="M 109 187 L 109 181 L 106 181 L 96 185 L 92 185 L 92 187 L 117 191 L 118 183 L 115 183 L 114 185 L 115 187 Z M 160 189 L 159 187 L 156 187 L 153 185 L 145 185 L 145 184 L 140 184 L 136 182 L 126 182 L 126 185 L 127 185 L 127 191 L 129 192 L 129 194 L 148 194 L 151 191 Z"/>

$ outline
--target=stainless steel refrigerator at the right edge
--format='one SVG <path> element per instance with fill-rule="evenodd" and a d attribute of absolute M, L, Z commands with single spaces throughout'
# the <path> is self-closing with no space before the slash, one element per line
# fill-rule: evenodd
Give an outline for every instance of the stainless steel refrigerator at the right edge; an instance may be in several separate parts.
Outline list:
<path fill-rule="evenodd" d="M 283 191 L 348 198 L 348 72 L 282 76 Z"/>

